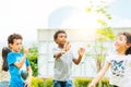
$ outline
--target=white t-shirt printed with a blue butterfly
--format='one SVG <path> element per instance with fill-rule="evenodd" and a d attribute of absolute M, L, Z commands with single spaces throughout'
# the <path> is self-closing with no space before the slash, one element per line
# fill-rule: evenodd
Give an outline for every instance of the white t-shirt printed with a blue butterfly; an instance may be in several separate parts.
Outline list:
<path fill-rule="evenodd" d="M 119 87 L 131 86 L 131 55 L 114 54 L 107 58 L 107 62 L 111 64 L 110 84 Z M 129 73 L 130 71 L 130 73 Z M 129 75 L 130 74 L 130 77 Z M 130 84 L 126 86 L 127 84 Z"/>

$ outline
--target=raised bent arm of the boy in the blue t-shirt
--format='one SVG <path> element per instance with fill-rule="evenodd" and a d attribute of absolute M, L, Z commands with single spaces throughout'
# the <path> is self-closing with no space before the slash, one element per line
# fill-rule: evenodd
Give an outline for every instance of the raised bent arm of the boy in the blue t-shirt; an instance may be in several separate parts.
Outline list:
<path fill-rule="evenodd" d="M 28 48 L 24 49 L 24 57 L 22 58 L 22 60 L 20 62 L 15 62 L 14 65 L 17 66 L 19 69 L 21 69 L 27 58 L 27 53 L 28 53 Z"/>

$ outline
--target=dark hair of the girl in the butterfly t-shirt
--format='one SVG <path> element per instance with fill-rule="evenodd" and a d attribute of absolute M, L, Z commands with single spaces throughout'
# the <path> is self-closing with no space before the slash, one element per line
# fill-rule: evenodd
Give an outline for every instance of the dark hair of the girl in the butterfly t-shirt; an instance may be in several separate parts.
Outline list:
<path fill-rule="evenodd" d="M 123 35 L 127 38 L 127 44 L 131 45 L 131 34 L 130 33 L 120 33 L 119 35 Z M 126 55 L 131 54 L 131 46 L 126 50 Z"/>

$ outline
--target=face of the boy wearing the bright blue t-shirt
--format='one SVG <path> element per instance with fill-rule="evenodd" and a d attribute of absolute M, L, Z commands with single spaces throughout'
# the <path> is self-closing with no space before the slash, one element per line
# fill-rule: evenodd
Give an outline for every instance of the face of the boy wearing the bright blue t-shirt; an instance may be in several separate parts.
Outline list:
<path fill-rule="evenodd" d="M 12 51 L 20 52 L 22 49 L 22 39 L 14 39 L 13 44 L 10 45 Z"/>

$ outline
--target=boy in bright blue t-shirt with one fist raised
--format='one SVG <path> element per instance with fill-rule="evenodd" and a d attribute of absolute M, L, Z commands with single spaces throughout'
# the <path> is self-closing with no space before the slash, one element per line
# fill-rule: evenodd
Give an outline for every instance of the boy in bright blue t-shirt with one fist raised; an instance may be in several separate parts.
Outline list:
<path fill-rule="evenodd" d="M 32 79 L 32 69 L 27 59 L 28 49 L 21 53 L 23 38 L 19 34 L 12 34 L 8 37 L 8 45 L 11 52 L 8 53 L 8 65 L 10 72 L 9 87 L 28 87 Z M 28 77 L 27 73 L 28 73 Z"/>

